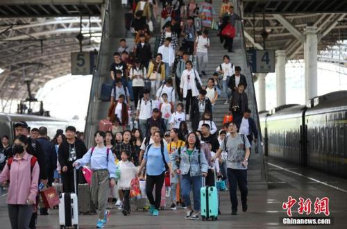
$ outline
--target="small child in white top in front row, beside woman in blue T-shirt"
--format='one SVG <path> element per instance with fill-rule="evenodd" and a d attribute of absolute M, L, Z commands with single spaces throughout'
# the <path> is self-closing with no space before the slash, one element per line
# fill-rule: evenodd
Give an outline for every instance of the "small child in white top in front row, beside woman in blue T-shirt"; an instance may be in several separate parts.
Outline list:
<path fill-rule="evenodd" d="M 137 167 L 130 162 L 130 154 L 127 151 L 121 151 L 121 161 L 118 162 L 117 167 L 121 172 L 121 177 L 118 180 L 119 197 L 123 200 L 122 211 L 126 216 L 130 214 L 130 183 L 135 178 Z"/>

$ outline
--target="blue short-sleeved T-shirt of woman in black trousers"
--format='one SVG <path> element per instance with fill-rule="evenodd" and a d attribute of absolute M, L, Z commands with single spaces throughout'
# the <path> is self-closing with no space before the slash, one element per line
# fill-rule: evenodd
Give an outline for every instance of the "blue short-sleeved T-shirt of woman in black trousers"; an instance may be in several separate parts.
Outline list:
<path fill-rule="evenodd" d="M 163 153 L 165 161 L 169 163 L 169 152 L 165 146 Z M 152 144 L 149 151 L 146 150 L 146 153 L 144 153 L 144 160 L 146 160 L 146 173 L 149 176 L 158 176 L 165 171 L 165 164 L 162 160 L 162 151 L 160 146 L 155 147 L 154 144 Z"/>

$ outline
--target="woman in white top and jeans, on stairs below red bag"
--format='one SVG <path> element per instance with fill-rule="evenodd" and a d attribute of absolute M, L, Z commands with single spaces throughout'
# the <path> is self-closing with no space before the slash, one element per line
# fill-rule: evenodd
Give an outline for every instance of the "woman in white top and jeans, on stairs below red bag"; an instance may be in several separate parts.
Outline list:
<path fill-rule="evenodd" d="M 219 65 L 216 69 L 217 72 L 223 75 L 222 78 L 222 90 L 223 90 L 223 97 L 226 99 L 226 102 L 224 104 L 229 103 L 229 97 L 231 95 L 231 91 L 228 88 L 228 81 L 230 76 L 235 74 L 235 66 L 232 65 L 230 62 L 230 57 L 228 55 L 223 56 L 223 62 L 221 65 Z"/>

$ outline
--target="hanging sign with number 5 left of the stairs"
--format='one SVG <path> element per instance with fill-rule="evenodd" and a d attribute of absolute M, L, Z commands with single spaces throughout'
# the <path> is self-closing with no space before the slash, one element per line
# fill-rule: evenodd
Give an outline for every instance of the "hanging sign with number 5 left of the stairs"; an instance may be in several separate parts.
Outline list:
<path fill-rule="evenodd" d="M 90 74 L 90 53 L 71 53 L 71 74 L 89 75 Z"/>

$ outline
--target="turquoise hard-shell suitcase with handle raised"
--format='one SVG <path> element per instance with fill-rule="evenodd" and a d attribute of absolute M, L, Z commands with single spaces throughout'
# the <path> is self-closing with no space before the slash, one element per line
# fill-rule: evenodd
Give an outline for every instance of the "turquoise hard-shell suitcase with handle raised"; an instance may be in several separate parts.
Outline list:
<path fill-rule="evenodd" d="M 205 178 L 203 178 L 203 187 L 200 189 L 201 198 L 201 218 L 204 220 L 218 219 L 218 193 L 217 187 L 205 186 Z"/>

